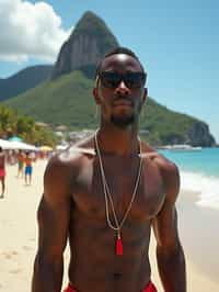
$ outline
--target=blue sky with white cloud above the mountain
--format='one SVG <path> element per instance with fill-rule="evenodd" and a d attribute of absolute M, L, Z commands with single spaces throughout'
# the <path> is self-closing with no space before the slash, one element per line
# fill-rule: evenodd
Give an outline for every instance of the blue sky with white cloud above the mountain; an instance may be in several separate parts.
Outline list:
<path fill-rule="evenodd" d="M 0 0 L 0 78 L 55 63 L 88 10 L 138 55 L 148 72 L 149 96 L 207 122 L 219 143 L 217 0 Z"/>

